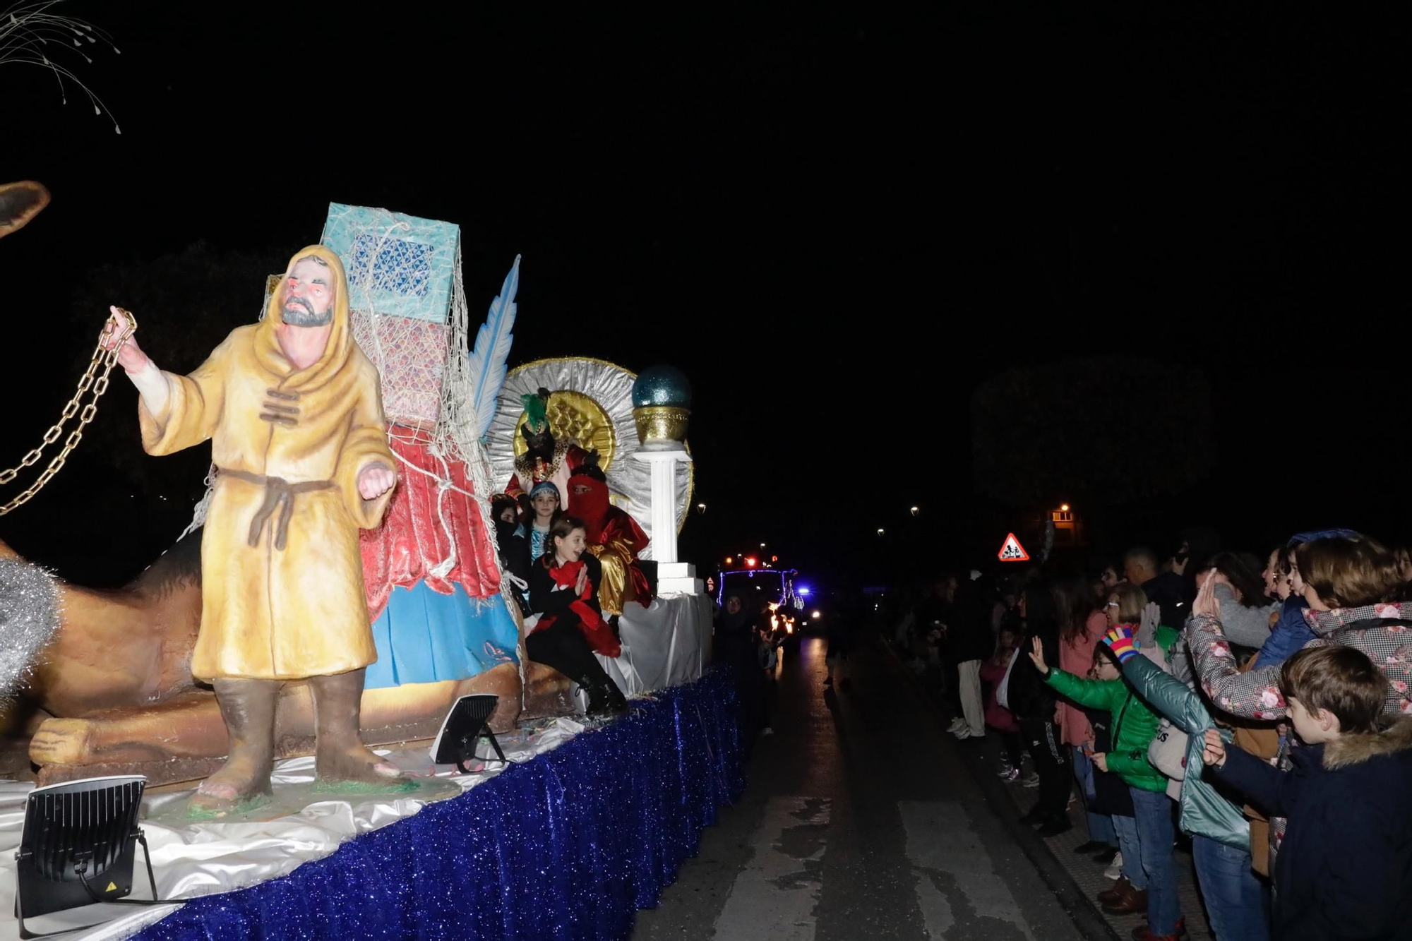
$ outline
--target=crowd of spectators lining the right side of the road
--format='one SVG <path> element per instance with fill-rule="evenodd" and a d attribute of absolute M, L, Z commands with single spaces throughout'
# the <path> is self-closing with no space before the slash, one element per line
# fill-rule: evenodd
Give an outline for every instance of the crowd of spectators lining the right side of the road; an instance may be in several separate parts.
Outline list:
<path fill-rule="evenodd" d="M 1264 557 L 1192 533 L 1097 571 L 926 586 L 894 640 L 943 678 L 957 739 L 1107 866 L 1106 911 L 1179 938 L 1178 839 L 1221 941 L 1412 937 L 1412 565 L 1348 530 Z M 1179 836 L 1180 835 L 1180 836 Z"/>

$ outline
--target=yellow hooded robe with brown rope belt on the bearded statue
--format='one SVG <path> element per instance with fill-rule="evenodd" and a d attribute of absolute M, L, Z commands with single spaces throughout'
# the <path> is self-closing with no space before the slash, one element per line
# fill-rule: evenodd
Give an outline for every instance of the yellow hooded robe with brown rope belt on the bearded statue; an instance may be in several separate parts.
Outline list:
<path fill-rule="evenodd" d="M 191 376 L 167 374 L 162 414 L 138 404 L 148 454 L 210 438 L 222 469 L 201 544 L 201 633 L 191 664 L 201 680 L 322 677 L 377 660 L 359 528 L 381 523 L 391 490 L 364 500 L 357 476 L 370 465 L 397 465 L 377 369 L 353 342 L 343 266 L 333 251 L 312 246 L 289 267 L 309 254 L 328 261 L 336 291 L 318 362 L 297 369 L 284 356 L 275 332 L 284 291 L 274 291 L 260 324 L 236 328 Z M 250 544 L 251 520 L 270 490 L 250 476 L 306 485 L 292 495 L 282 550 L 275 545 L 282 507 Z M 316 489 L 319 482 L 329 483 Z"/>

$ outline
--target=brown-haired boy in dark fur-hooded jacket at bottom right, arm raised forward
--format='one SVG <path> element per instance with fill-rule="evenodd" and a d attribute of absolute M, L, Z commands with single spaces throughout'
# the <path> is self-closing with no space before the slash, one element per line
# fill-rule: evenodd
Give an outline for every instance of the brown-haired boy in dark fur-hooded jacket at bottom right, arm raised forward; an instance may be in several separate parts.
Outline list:
<path fill-rule="evenodd" d="M 1300 650 L 1279 688 L 1295 732 L 1281 771 L 1206 733 L 1203 760 L 1289 828 L 1271 937 L 1412 938 L 1412 719 L 1377 730 L 1387 680 L 1353 647 Z"/>

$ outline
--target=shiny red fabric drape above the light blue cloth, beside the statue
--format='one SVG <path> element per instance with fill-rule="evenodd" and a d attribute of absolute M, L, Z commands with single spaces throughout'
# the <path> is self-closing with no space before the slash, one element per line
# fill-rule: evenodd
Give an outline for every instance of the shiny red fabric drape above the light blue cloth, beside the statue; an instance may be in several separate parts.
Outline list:
<path fill-rule="evenodd" d="M 411 432 L 394 428 L 393 451 L 436 476 L 419 473 L 398 461 L 397 492 L 383 516 L 383 526 L 363 530 L 363 591 L 371 620 L 383 613 L 395 585 L 411 588 L 426 582 L 442 595 L 450 595 L 452 585 L 460 585 L 472 598 L 489 598 L 500 591 L 494 545 L 480 509 L 466 496 L 474 493 L 466 466 L 435 458 L 426 445 L 398 441 L 405 434 Z M 449 478 L 456 489 L 441 492 L 436 480 L 442 476 Z M 442 527 L 442 517 L 450 530 L 450 540 Z M 445 576 L 432 575 L 432 568 L 448 557 L 450 548 L 456 551 L 452 569 Z"/>

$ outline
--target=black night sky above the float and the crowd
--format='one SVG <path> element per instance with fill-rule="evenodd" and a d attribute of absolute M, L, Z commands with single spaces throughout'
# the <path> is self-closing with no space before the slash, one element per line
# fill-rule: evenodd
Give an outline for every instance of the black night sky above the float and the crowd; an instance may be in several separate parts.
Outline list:
<path fill-rule="evenodd" d="M 109 302 L 186 372 L 172 356 L 253 319 L 332 201 L 459 223 L 473 316 L 522 254 L 511 365 L 683 369 L 698 561 L 768 541 L 846 584 L 993 560 L 1024 509 L 977 489 L 971 396 L 1093 356 L 1203 379 L 1213 455 L 1094 510 L 1096 550 L 1190 523 L 1257 551 L 1412 535 L 1396 4 L 497 6 L 65 3 L 121 55 L 54 58 L 123 133 L 0 65 L 0 179 L 54 194 L 0 243 L 0 463 L 72 394 Z M 193 251 L 250 283 L 161 264 Z M 1172 394 L 1115 383 L 1108 407 Z M 134 397 L 114 383 L 96 444 L 0 537 L 107 584 L 169 544 L 209 452 L 143 456 Z"/>

